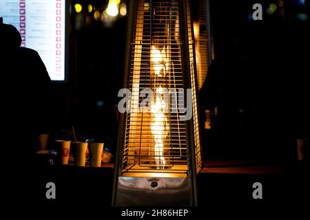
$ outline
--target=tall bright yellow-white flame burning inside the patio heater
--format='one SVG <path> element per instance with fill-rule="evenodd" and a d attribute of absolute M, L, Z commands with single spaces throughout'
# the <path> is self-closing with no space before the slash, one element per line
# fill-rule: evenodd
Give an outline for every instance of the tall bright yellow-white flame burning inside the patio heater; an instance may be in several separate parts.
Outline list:
<path fill-rule="evenodd" d="M 156 77 L 165 77 L 167 72 L 167 56 L 165 48 L 160 51 L 156 47 L 152 46 L 151 50 L 151 67 Z M 169 128 L 167 116 L 165 115 L 165 109 L 167 109 L 167 103 L 165 102 L 165 89 L 161 85 L 154 83 L 154 93 L 156 96 L 152 100 L 151 113 L 151 131 L 155 141 L 155 162 L 158 168 L 164 168 L 166 162 L 164 157 L 164 140 L 167 136 Z"/>

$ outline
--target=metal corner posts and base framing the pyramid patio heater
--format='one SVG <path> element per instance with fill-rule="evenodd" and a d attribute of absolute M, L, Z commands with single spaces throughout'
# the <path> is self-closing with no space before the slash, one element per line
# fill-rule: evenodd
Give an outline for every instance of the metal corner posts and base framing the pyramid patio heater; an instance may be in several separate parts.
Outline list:
<path fill-rule="evenodd" d="M 196 58 L 194 56 L 194 62 L 191 64 L 189 60 L 189 39 L 188 39 L 188 27 L 185 25 L 187 24 L 188 17 L 187 17 L 187 4 L 190 4 L 190 1 L 188 0 L 178 0 L 178 5 L 180 8 L 183 9 L 183 11 L 179 10 L 179 18 L 180 18 L 180 33 L 183 34 L 182 45 L 181 45 L 181 54 L 183 54 L 182 57 L 182 74 L 183 74 L 183 80 L 184 85 L 187 88 L 192 88 L 191 83 L 191 65 L 193 65 L 192 68 L 194 68 L 194 80 L 195 80 L 195 88 L 196 91 L 198 91 L 198 80 L 197 80 L 197 72 L 196 72 Z M 190 5 L 188 5 L 190 7 Z M 130 1 L 130 4 L 128 5 L 129 10 L 128 11 L 128 19 L 127 19 L 127 45 L 125 50 L 125 68 L 124 68 L 124 78 L 123 78 L 123 87 L 127 87 L 127 82 L 130 79 L 130 56 L 132 54 L 132 40 L 133 40 L 133 32 L 134 30 L 133 25 L 134 23 L 131 21 L 130 18 L 134 15 L 134 3 Z M 190 18 L 190 22 L 192 23 L 192 17 Z M 192 32 L 192 51 L 193 54 L 195 54 L 195 48 L 194 48 L 194 30 L 193 25 L 191 25 L 191 32 Z M 186 102 L 186 100 L 185 100 Z M 185 103 L 186 104 L 186 103 Z M 199 118 L 199 112 L 198 112 L 198 100 L 196 100 L 196 113 L 197 117 Z M 194 107 L 193 107 L 194 108 Z M 125 126 L 125 117 L 126 114 L 120 113 L 119 122 L 118 122 L 118 144 L 116 148 L 116 161 L 114 166 L 114 187 L 112 192 L 112 206 L 148 206 L 148 205 L 161 205 L 161 206 L 169 206 L 169 205 L 180 205 L 180 206 L 197 206 L 197 189 L 196 189 L 196 172 L 203 168 L 203 163 L 200 161 L 200 164 L 198 164 L 200 167 L 196 167 L 196 152 L 195 152 L 195 140 L 194 140 L 194 122 L 193 118 L 191 120 L 188 120 L 185 122 L 186 124 L 186 130 L 187 130 L 187 150 L 189 152 L 189 159 L 187 160 L 187 177 L 123 177 L 122 176 L 122 168 L 121 168 L 121 153 L 123 149 L 123 140 L 124 140 L 124 126 Z M 200 128 L 198 124 L 198 133 L 200 134 Z M 199 142 L 200 142 L 200 135 L 199 135 Z M 200 142 L 201 143 L 201 142 Z M 202 157 L 202 149 L 200 144 L 200 157 Z M 200 158 L 200 160 L 202 160 Z M 179 182 L 179 184 L 176 184 Z M 147 184 L 143 190 L 139 191 L 132 184 L 134 183 L 140 183 L 140 184 Z M 149 184 L 150 183 L 150 184 Z M 158 183 L 167 183 L 164 184 L 165 186 L 169 186 L 170 193 L 167 193 L 168 190 L 165 190 L 161 186 L 156 188 L 156 184 Z M 154 184 L 156 186 L 154 186 Z M 126 187 L 127 186 L 127 187 Z M 185 188 L 187 190 L 180 190 L 181 188 Z M 174 190 L 173 190 L 174 189 Z M 163 193 L 165 192 L 165 193 Z M 134 195 L 137 200 L 133 200 L 131 198 L 128 199 L 128 197 L 124 197 L 124 195 Z M 158 195 L 161 195 L 158 199 Z M 145 198 L 149 199 L 149 196 L 155 199 L 154 203 L 147 203 Z M 177 199 L 172 200 L 171 204 L 163 203 L 163 200 L 169 199 L 169 197 L 182 197 L 180 202 L 177 202 Z M 124 199 L 125 198 L 125 199 Z M 127 198 L 127 199 L 126 199 Z M 162 200 L 162 201 L 159 201 Z M 124 201 L 124 202 L 123 202 Z"/>

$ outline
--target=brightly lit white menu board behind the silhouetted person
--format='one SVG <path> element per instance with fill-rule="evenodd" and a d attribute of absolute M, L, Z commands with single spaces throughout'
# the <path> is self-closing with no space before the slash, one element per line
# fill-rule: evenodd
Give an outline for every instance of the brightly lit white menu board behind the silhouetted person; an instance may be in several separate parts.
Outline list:
<path fill-rule="evenodd" d="M 0 17 L 36 50 L 52 80 L 65 80 L 65 0 L 1 0 Z"/>

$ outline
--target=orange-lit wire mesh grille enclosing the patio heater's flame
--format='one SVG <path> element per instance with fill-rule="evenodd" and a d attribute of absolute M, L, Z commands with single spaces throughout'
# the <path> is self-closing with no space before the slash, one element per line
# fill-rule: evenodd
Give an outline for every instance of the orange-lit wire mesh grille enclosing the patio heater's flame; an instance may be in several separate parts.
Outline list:
<path fill-rule="evenodd" d="M 187 5 L 188 6 L 188 5 Z M 190 164 L 180 5 L 171 1 L 137 1 L 134 5 L 127 88 L 131 102 L 124 124 L 122 173 L 187 174 Z M 187 20 L 190 22 L 189 10 Z M 190 30 L 192 27 L 187 27 Z M 199 150 L 192 30 L 189 31 L 194 140 Z M 196 126 L 196 125 L 197 126 Z M 199 162 L 200 163 L 200 159 Z"/>

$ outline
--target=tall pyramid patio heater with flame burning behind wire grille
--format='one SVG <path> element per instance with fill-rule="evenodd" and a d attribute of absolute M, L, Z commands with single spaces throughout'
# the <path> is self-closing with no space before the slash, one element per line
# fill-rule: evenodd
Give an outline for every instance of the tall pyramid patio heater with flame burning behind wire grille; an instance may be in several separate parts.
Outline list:
<path fill-rule="evenodd" d="M 196 206 L 203 163 L 190 3 L 130 3 L 112 205 Z"/>

